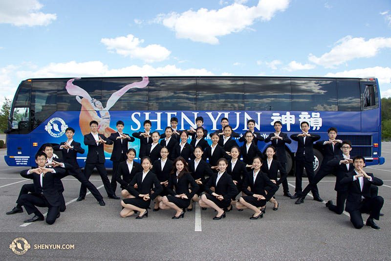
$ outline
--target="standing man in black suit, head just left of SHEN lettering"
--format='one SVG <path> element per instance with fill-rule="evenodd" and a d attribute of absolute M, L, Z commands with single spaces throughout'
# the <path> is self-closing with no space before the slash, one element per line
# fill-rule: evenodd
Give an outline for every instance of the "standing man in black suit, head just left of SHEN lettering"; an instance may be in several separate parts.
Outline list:
<path fill-rule="evenodd" d="M 111 188 L 117 190 L 117 172 L 118 165 L 127 159 L 126 152 L 128 151 L 128 142 L 134 142 L 134 138 L 129 134 L 123 132 L 125 124 L 122 120 L 117 121 L 117 132 L 111 133 L 109 140 L 113 144 L 113 151 L 111 153 L 110 161 L 113 162 L 113 174 L 111 176 Z"/>

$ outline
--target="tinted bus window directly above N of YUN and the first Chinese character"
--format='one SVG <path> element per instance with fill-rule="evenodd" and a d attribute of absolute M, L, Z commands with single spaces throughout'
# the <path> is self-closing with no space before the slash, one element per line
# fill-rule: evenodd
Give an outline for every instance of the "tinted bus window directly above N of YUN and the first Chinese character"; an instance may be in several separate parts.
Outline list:
<path fill-rule="evenodd" d="M 290 79 L 244 80 L 246 111 L 292 110 Z"/>

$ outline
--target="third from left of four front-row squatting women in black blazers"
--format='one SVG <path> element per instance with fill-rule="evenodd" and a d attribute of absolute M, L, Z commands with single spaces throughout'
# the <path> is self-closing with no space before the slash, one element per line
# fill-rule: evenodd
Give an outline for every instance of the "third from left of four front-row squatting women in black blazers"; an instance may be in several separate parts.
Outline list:
<path fill-rule="evenodd" d="M 203 194 L 198 204 L 202 208 L 213 208 L 217 211 L 217 215 L 213 218 L 214 220 L 225 217 L 224 208 L 228 208 L 231 205 L 231 199 L 234 195 L 237 195 L 238 189 L 236 188 L 232 177 L 227 173 L 226 168 L 228 161 L 221 158 L 217 161 L 219 172 L 213 174 L 209 179 L 205 188 L 205 192 L 209 195 Z M 215 192 L 210 188 L 215 187 Z"/>

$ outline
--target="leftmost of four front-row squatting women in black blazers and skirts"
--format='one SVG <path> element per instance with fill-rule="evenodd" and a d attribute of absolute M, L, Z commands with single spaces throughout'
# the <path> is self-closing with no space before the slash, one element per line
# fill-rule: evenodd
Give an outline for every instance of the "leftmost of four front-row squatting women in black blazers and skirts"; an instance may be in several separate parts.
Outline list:
<path fill-rule="evenodd" d="M 139 211 L 140 215 L 136 216 L 136 219 L 148 217 L 148 207 L 151 204 L 151 200 L 163 190 L 156 175 L 150 170 L 151 159 L 143 157 L 141 159 L 142 172 L 138 172 L 132 181 L 130 182 L 126 190 L 130 191 L 133 198 L 126 198 L 121 200 L 121 206 L 124 209 L 121 211 L 121 217 L 127 217 L 134 214 L 134 211 Z M 137 184 L 137 190 L 134 189 L 134 185 Z M 153 188 L 153 185 L 155 187 Z M 153 189 L 152 189 L 153 188 Z M 153 193 L 150 195 L 151 190 Z"/>

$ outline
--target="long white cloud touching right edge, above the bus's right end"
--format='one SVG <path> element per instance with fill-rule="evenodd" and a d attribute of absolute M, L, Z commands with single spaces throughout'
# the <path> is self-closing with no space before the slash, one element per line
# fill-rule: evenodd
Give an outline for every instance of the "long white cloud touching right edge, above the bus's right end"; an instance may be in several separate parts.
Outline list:
<path fill-rule="evenodd" d="M 336 44 L 331 51 L 321 57 L 310 53 L 308 60 L 325 68 L 335 68 L 335 66 L 355 58 L 373 57 L 378 54 L 381 48 L 391 48 L 391 38 L 376 37 L 365 41 L 364 38 L 346 36 Z"/>

